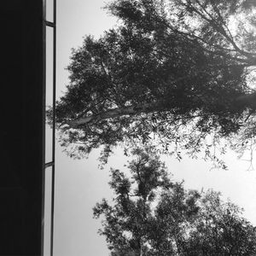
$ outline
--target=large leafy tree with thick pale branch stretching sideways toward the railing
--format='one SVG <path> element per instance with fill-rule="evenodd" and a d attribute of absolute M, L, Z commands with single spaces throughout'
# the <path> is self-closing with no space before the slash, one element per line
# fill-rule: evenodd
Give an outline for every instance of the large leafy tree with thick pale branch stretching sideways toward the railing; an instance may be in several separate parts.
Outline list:
<path fill-rule="evenodd" d="M 253 1 L 122 0 L 107 9 L 119 26 L 73 49 L 56 105 L 71 156 L 152 137 L 163 151 L 205 148 L 207 156 L 220 137 L 239 134 L 235 148 L 253 143 Z"/>

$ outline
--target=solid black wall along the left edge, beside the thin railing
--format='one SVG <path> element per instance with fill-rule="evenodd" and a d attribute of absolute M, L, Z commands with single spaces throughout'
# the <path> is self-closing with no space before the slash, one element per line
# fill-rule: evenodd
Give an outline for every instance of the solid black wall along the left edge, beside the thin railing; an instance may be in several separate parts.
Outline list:
<path fill-rule="evenodd" d="M 40 255 L 43 0 L 2 1 L 0 255 Z"/>

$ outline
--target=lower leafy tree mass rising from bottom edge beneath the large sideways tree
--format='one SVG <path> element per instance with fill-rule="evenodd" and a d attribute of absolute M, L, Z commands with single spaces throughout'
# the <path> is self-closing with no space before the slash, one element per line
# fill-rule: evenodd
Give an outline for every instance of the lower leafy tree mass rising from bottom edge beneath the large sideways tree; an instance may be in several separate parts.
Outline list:
<path fill-rule="evenodd" d="M 172 182 L 152 151 L 133 149 L 130 176 L 111 171 L 113 203 L 94 207 L 113 256 L 255 255 L 256 232 L 236 205 Z"/>

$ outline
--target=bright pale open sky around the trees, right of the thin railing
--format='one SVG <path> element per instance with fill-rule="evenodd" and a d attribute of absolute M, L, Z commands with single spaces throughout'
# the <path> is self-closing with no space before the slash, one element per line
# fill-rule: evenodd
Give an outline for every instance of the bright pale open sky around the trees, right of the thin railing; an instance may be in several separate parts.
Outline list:
<path fill-rule="evenodd" d="M 102 0 L 57 1 L 57 96 L 68 84 L 65 70 L 71 48 L 80 46 L 86 34 L 98 37 L 114 25 L 115 20 L 106 14 Z M 104 237 L 97 234 L 100 221 L 92 218 L 92 207 L 102 197 L 111 197 L 108 188 L 109 166 L 125 164 L 122 152 L 117 152 L 104 170 L 97 168 L 96 150 L 88 160 L 72 160 L 56 144 L 55 174 L 55 256 L 108 255 Z M 212 170 L 211 164 L 201 160 L 177 162 L 166 158 L 166 166 L 173 178 L 184 179 L 189 189 L 215 189 L 230 197 L 245 209 L 245 217 L 256 225 L 256 171 L 247 172 L 247 161 L 227 156 L 229 171 Z M 255 168 L 256 162 L 254 160 Z M 47 254 L 46 254 L 47 255 Z"/>

